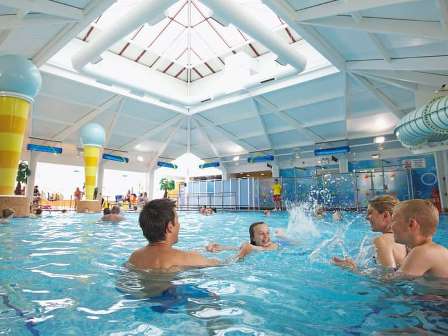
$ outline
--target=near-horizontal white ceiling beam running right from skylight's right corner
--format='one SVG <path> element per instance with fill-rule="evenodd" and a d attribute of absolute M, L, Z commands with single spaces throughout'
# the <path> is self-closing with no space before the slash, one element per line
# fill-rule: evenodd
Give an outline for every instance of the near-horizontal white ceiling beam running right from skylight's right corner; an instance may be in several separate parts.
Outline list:
<path fill-rule="evenodd" d="M 448 56 L 426 56 L 384 60 L 349 61 L 347 70 L 409 70 L 409 71 L 446 71 Z"/>

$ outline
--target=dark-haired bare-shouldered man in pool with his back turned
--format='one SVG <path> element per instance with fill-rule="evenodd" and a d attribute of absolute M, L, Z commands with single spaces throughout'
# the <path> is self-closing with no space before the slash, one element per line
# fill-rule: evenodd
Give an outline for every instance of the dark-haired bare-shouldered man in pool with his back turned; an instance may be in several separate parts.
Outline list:
<path fill-rule="evenodd" d="M 129 264 L 135 268 L 169 270 L 221 264 L 219 260 L 208 259 L 197 252 L 173 248 L 180 229 L 174 201 L 164 198 L 148 202 L 140 213 L 139 223 L 148 245 L 134 251 L 129 257 Z"/>

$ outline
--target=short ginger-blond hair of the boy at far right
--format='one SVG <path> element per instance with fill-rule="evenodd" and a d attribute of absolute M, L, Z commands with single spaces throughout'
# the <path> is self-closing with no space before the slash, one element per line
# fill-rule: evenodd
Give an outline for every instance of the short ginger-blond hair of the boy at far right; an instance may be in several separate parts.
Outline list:
<path fill-rule="evenodd" d="M 400 212 L 400 215 L 406 222 L 415 219 L 420 225 L 420 233 L 425 237 L 431 237 L 436 233 L 439 224 L 439 211 L 431 201 L 414 199 L 401 202 L 394 213 Z"/>

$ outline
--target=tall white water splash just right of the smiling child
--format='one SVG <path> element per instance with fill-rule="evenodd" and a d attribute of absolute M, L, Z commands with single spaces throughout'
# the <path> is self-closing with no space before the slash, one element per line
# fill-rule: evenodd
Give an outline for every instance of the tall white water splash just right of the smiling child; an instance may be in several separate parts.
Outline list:
<path fill-rule="evenodd" d="M 289 214 L 288 228 L 286 229 L 288 237 L 299 240 L 301 237 L 320 236 L 305 204 L 287 204 L 286 209 Z"/>

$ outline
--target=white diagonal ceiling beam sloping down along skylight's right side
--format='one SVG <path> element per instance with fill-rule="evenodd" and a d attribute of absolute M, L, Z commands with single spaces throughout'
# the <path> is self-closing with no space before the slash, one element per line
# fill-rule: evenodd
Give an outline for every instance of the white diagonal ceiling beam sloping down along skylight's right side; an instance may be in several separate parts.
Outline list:
<path fill-rule="evenodd" d="M 345 69 L 345 59 L 340 52 L 325 41 L 322 35 L 313 27 L 301 25 L 297 21 L 296 10 L 286 0 L 264 0 L 263 2 L 335 67 L 339 70 Z"/>

